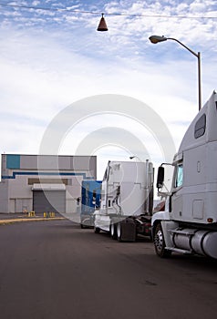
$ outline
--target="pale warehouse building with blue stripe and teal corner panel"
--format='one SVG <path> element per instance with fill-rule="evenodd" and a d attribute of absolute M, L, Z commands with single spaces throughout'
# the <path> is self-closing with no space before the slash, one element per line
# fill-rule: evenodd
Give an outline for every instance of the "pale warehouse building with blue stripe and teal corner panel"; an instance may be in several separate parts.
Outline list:
<path fill-rule="evenodd" d="M 78 211 L 82 180 L 96 179 L 96 156 L 3 154 L 0 212 Z"/>

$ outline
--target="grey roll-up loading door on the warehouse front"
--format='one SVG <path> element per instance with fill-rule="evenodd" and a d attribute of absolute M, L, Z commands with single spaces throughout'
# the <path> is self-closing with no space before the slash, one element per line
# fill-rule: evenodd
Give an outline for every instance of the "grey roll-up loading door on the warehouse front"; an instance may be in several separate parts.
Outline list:
<path fill-rule="evenodd" d="M 33 190 L 33 211 L 66 212 L 66 190 Z"/>

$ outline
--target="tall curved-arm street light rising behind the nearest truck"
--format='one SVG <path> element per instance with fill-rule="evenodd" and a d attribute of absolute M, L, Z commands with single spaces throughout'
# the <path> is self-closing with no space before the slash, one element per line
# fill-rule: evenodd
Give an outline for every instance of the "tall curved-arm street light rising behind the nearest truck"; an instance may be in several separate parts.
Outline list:
<path fill-rule="evenodd" d="M 199 104 L 199 110 L 202 108 L 202 71 L 201 71 L 201 52 L 194 52 L 189 48 L 188 46 L 183 45 L 181 41 L 175 39 L 174 37 L 166 37 L 166 36 L 150 36 L 150 42 L 153 44 L 157 44 L 159 42 L 167 41 L 167 40 L 173 40 L 178 42 L 181 46 L 184 46 L 188 51 L 191 52 L 192 55 L 197 57 L 198 59 L 198 104 Z"/>

